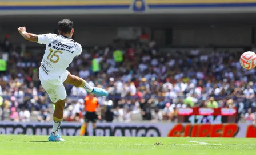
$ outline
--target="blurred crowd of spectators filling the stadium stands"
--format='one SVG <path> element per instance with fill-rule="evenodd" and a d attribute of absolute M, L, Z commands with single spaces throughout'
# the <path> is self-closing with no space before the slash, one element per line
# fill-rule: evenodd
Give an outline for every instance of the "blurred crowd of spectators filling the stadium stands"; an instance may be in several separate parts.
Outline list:
<path fill-rule="evenodd" d="M 1 51 L 7 53 L 7 71 L 0 77 L 0 113 L 9 113 L 13 121 L 29 121 L 30 114 L 37 112 L 38 121 L 49 121 L 53 106 L 38 79 L 43 53 L 35 57 L 25 45 L 13 46 L 8 36 Z M 115 59 L 120 54 L 123 59 Z M 240 55 L 203 49 L 161 52 L 154 41 L 115 40 L 105 48 L 84 49 L 68 70 L 107 89 L 109 96 L 99 97 L 102 120 L 113 115 L 114 121 L 131 121 L 139 115 L 142 120 L 177 121 L 179 108 L 236 107 L 238 116 L 255 121 L 255 70 L 244 70 Z M 92 70 L 93 60 L 98 62 L 97 70 Z M 87 92 L 65 87 L 69 97 L 64 120 L 82 121 Z"/>

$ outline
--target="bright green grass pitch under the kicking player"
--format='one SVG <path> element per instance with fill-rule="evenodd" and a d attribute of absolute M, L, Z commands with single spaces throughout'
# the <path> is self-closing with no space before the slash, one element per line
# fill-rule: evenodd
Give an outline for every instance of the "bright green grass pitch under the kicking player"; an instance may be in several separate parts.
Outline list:
<path fill-rule="evenodd" d="M 2 155 L 82 154 L 256 154 L 253 138 L 79 137 L 63 136 L 65 142 L 48 142 L 47 136 L 0 135 Z"/>

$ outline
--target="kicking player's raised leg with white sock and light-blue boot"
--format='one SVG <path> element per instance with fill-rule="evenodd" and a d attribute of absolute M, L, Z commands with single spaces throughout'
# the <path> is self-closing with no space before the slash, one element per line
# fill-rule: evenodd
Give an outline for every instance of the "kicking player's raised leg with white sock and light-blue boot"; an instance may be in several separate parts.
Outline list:
<path fill-rule="evenodd" d="M 98 87 L 92 87 L 82 78 L 79 78 L 78 76 L 72 75 L 70 73 L 67 76 L 67 79 L 64 81 L 64 83 L 72 84 L 75 87 L 85 88 L 86 91 L 90 93 L 94 93 L 95 95 L 98 95 L 98 96 L 107 96 L 107 91 L 105 91 L 104 89 L 98 88 Z"/>

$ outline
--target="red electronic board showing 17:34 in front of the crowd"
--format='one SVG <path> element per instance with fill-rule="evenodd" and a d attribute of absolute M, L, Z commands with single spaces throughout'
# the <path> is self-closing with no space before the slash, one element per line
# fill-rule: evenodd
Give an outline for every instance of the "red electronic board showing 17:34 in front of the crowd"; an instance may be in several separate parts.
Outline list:
<path fill-rule="evenodd" d="M 236 115 L 235 108 L 182 108 L 178 112 L 178 122 L 191 124 L 235 123 Z"/>

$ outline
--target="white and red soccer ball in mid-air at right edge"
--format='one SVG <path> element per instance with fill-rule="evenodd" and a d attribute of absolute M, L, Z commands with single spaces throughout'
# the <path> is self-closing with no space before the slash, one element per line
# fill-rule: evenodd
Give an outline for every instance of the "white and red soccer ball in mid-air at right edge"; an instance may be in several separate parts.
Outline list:
<path fill-rule="evenodd" d="M 254 52 L 244 52 L 240 57 L 240 64 L 246 70 L 256 67 L 256 54 Z"/>

